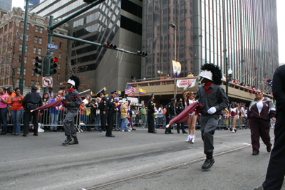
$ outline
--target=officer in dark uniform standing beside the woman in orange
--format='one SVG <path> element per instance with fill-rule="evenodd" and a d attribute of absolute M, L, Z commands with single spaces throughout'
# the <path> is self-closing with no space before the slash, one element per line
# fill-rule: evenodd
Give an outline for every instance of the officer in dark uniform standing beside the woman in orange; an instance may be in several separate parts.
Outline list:
<path fill-rule="evenodd" d="M 38 111 L 31 112 L 31 110 L 41 107 L 43 102 L 41 101 L 41 96 L 36 93 L 35 85 L 31 86 L 31 93 L 28 93 L 23 99 L 23 107 L 26 107 L 26 112 L 24 115 L 24 134 L 26 137 L 28 134 L 28 127 L 30 125 L 31 117 L 33 116 L 33 135 L 38 136 Z"/>

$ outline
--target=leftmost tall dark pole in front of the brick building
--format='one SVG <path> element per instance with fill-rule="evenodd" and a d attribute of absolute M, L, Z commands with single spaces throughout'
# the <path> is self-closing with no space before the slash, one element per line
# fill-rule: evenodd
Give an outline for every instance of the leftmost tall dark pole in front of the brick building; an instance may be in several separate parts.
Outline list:
<path fill-rule="evenodd" d="M 25 20 L 24 20 L 24 32 L 23 32 L 23 42 L 22 42 L 22 52 L 21 52 L 21 70 L 20 70 L 20 84 L 19 88 L 21 93 L 24 93 L 24 64 L 25 64 L 25 53 L 26 53 L 26 29 L 28 23 L 28 0 L 26 0 L 25 9 Z"/>

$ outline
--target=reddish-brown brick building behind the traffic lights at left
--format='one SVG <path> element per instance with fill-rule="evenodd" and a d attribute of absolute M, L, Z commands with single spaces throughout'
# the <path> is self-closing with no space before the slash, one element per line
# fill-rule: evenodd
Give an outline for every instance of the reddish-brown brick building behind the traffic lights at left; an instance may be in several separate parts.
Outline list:
<path fill-rule="evenodd" d="M 25 12 L 21 8 L 12 11 L 0 9 L 0 86 L 19 87 L 21 51 Z M 31 85 L 41 85 L 42 77 L 34 73 L 36 56 L 46 56 L 48 17 L 28 14 L 26 53 L 24 61 L 24 95 Z M 55 32 L 68 34 L 68 25 L 58 27 Z M 53 56 L 58 58 L 57 73 L 53 75 L 53 87 L 65 80 L 67 40 L 53 38 L 58 49 Z M 42 85 L 41 85 L 42 86 Z"/>

